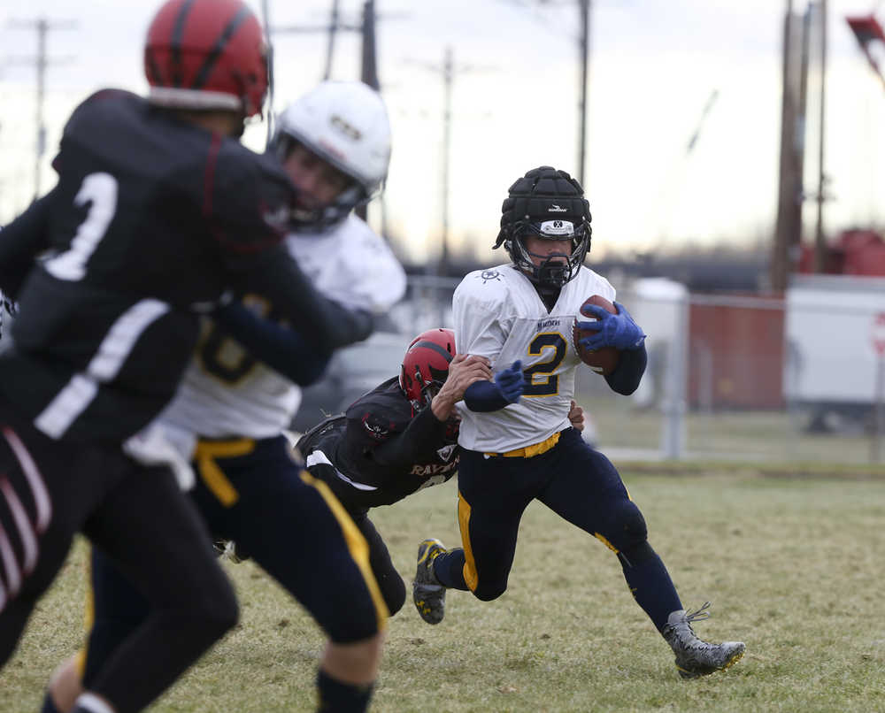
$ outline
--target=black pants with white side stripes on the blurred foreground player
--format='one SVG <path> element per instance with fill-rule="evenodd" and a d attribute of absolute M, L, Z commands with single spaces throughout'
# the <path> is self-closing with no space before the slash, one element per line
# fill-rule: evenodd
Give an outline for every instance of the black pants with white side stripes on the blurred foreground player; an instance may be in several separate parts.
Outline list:
<path fill-rule="evenodd" d="M 172 472 L 53 441 L 0 402 L 0 665 L 80 530 L 151 602 L 89 690 L 141 710 L 236 622 L 234 592 Z"/>

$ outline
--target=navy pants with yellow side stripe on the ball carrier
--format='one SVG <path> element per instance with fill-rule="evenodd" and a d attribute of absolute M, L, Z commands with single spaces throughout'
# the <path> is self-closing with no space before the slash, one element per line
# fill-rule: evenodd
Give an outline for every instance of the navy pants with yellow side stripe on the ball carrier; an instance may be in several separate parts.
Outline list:
<path fill-rule="evenodd" d="M 658 630 L 671 611 L 682 608 L 664 563 L 648 543 L 643 514 L 617 470 L 573 428 L 561 432 L 553 448 L 530 458 L 462 449 L 458 524 L 463 548 L 436 557 L 437 579 L 484 601 L 504 594 L 519 521 L 533 500 L 619 556 L 627 585 Z"/>

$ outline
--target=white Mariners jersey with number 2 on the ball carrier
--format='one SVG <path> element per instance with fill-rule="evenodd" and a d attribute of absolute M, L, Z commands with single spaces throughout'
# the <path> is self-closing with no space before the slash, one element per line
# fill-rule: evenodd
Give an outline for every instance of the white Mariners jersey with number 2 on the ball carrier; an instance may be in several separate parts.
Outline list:
<path fill-rule="evenodd" d="M 551 311 L 513 265 L 476 270 L 461 280 L 452 298 L 458 354 L 488 357 L 493 372 L 519 359 L 527 379 L 519 402 L 504 409 L 476 413 L 458 404 L 462 447 L 504 453 L 545 441 L 569 426 L 574 370 L 581 364 L 572 326 L 590 295 L 614 302 L 615 291 L 584 266 L 562 288 Z"/>

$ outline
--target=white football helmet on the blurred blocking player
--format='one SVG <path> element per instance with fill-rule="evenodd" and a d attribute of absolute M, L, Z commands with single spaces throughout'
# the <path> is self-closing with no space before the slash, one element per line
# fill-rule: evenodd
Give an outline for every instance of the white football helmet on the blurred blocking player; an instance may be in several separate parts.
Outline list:
<path fill-rule="evenodd" d="M 390 163 L 390 122 L 381 95 L 361 81 L 323 81 L 280 115 L 271 149 L 281 160 L 298 142 L 355 181 L 331 205 L 299 222 L 334 225 L 381 189 Z"/>

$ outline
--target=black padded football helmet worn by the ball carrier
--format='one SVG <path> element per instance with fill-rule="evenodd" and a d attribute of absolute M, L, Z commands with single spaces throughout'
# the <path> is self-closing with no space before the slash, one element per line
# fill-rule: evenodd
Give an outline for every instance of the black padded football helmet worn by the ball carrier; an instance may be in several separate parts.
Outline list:
<path fill-rule="evenodd" d="M 501 213 L 501 231 L 493 247 L 504 245 L 513 265 L 535 285 L 558 289 L 578 274 L 590 249 L 592 230 L 590 205 L 577 180 L 550 166 L 534 168 L 510 187 Z M 572 255 L 554 254 L 535 265 L 523 242 L 527 235 L 542 240 L 570 237 Z"/>

